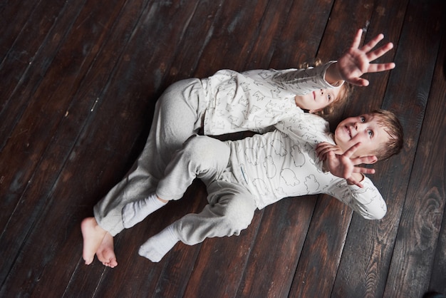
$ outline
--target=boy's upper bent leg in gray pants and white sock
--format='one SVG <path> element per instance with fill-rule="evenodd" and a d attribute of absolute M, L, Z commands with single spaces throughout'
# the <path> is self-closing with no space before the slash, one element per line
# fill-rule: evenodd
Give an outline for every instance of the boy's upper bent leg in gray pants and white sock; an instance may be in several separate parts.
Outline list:
<path fill-rule="evenodd" d="M 162 200 L 179 200 L 195 178 L 215 180 L 227 167 L 231 150 L 227 143 L 207 136 L 195 135 L 187 140 L 167 165 L 156 195 L 129 202 L 123 207 L 123 225 L 133 227 L 147 215 L 164 205 Z"/>

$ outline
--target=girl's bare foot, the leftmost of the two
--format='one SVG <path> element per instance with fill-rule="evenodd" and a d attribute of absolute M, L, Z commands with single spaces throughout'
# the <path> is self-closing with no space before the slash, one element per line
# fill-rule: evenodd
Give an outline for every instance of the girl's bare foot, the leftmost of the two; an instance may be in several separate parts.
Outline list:
<path fill-rule="evenodd" d="M 84 218 L 81 223 L 81 230 L 83 237 L 82 257 L 85 264 L 89 265 L 93 262 L 95 253 L 103 242 L 107 231 L 98 225 L 95 217 Z"/>

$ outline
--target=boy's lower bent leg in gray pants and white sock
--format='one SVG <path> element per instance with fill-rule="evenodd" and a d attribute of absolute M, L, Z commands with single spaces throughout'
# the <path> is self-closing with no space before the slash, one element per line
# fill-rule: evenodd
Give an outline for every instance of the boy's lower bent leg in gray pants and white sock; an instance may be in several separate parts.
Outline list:
<path fill-rule="evenodd" d="M 239 235 L 254 217 L 254 197 L 242 185 L 215 181 L 209 185 L 209 205 L 199 214 L 188 214 L 145 242 L 142 257 L 159 262 L 181 241 L 195 245 L 207 237 Z"/>

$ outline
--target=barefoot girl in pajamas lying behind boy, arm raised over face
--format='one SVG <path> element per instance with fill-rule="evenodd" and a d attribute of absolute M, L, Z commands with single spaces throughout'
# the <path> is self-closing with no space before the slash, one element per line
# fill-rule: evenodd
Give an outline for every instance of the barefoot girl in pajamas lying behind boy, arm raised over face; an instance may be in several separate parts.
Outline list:
<path fill-rule="evenodd" d="M 224 70 L 209 78 L 191 78 L 167 88 L 155 106 L 140 157 L 128 175 L 95 205 L 95 217 L 85 219 L 81 225 L 85 264 L 93 262 L 96 254 L 103 264 L 115 267 L 113 236 L 124 228 L 123 206 L 155 191 L 173 153 L 191 135 L 199 130 L 205 135 L 264 132 L 281 119 L 304 113 L 301 109 L 314 113 L 343 101 L 348 96 L 344 81 L 367 86 L 368 81 L 360 78 L 363 73 L 395 67 L 394 63 L 370 64 L 393 48 L 392 43 L 371 51 L 383 39 L 380 34 L 359 48 L 361 35 L 359 30 L 351 48 L 337 62 L 284 71 Z M 98 227 L 102 230 L 95 232 Z"/>

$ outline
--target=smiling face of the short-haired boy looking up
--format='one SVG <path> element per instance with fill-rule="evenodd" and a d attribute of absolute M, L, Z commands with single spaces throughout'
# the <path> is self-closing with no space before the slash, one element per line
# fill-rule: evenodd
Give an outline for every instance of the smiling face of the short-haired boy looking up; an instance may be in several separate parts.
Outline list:
<path fill-rule="evenodd" d="M 335 143 L 344 152 L 358 142 L 361 142 L 354 157 L 375 155 L 376 151 L 388 142 L 390 136 L 378 124 L 378 119 L 372 114 L 350 117 L 342 120 L 335 130 Z"/>

